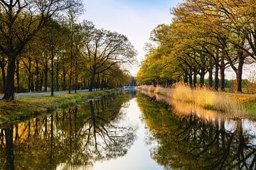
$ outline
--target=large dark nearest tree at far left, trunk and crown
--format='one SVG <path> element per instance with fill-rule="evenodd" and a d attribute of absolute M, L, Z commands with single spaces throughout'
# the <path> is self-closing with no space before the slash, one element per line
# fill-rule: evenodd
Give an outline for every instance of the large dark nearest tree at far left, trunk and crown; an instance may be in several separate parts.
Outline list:
<path fill-rule="evenodd" d="M 16 57 L 26 44 L 50 18 L 70 8 L 78 11 L 81 6 L 81 2 L 75 0 L 1 1 L 0 50 L 8 59 L 5 99 L 14 99 Z"/>

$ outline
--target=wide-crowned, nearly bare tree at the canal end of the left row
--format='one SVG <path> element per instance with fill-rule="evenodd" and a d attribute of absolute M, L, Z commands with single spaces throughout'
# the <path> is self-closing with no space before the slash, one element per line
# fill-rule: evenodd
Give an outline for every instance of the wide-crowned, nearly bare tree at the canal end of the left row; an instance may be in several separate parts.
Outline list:
<path fill-rule="evenodd" d="M 84 34 L 83 57 L 85 67 L 90 72 L 90 88 L 95 87 L 95 75 L 105 72 L 116 64 L 134 62 L 136 51 L 124 35 L 109 30 L 98 30 L 93 23 L 82 23 Z"/>

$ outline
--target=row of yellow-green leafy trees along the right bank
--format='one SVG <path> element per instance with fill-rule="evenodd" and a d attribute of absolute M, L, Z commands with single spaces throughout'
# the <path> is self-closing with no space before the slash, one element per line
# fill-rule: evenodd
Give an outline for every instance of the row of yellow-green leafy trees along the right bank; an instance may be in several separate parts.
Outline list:
<path fill-rule="evenodd" d="M 137 74 L 139 84 L 172 84 L 183 81 L 225 91 L 225 70 L 236 75 L 242 91 L 245 64 L 256 62 L 256 1 L 186 0 L 171 10 L 169 25 L 151 33 L 146 60 Z M 220 86 L 219 86 L 220 79 Z"/>

